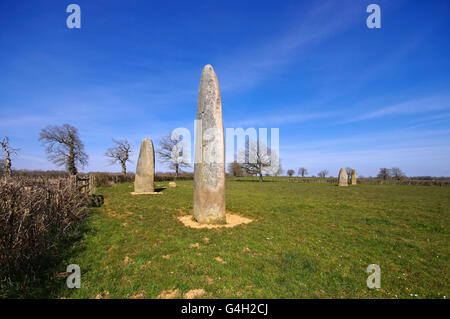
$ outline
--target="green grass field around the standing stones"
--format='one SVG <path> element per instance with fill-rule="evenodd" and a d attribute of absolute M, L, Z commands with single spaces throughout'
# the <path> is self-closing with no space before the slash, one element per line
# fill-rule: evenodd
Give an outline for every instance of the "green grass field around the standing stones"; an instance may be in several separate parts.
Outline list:
<path fill-rule="evenodd" d="M 167 186 L 167 183 L 156 183 Z M 191 229 L 193 183 L 132 196 L 102 188 L 59 265 L 81 267 L 81 289 L 55 276 L 39 297 L 156 298 L 204 289 L 203 298 L 445 298 L 450 295 L 450 187 L 227 181 L 227 211 L 248 225 Z M 217 257 L 224 262 L 217 261 Z M 381 267 L 381 289 L 366 285 Z M 46 294 L 46 295 L 43 295 Z M 445 297 L 444 297 L 445 296 Z"/>

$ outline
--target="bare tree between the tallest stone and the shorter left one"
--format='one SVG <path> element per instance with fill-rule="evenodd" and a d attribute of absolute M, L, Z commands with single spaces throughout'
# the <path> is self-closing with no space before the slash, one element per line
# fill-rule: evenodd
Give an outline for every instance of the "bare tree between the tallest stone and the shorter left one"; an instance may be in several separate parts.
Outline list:
<path fill-rule="evenodd" d="M 159 149 L 156 151 L 159 161 L 175 170 L 175 179 L 178 178 L 182 168 L 191 166 L 183 159 L 184 151 L 181 139 L 172 140 L 170 135 L 166 135 L 159 141 Z"/>

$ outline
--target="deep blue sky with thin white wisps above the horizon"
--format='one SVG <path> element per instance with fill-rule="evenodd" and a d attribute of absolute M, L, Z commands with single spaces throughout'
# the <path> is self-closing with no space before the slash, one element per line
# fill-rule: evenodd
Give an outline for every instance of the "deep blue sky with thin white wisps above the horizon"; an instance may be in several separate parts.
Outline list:
<path fill-rule="evenodd" d="M 212 64 L 224 127 L 278 127 L 285 170 L 450 176 L 449 31 L 448 1 L 3 0 L 0 136 L 21 148 L 15 168 L 53 169 L 39 132 L 72 124 L 84 171 L 120 171 L 103 153 L 127 137 L 133 171 L 143 138 L 193 131 Z"/>

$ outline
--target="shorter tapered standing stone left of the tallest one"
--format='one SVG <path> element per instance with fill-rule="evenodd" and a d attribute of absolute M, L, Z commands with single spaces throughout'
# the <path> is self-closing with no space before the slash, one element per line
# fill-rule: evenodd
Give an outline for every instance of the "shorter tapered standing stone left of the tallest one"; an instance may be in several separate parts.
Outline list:
<path fill-rule="evenodd" d="M 151 139 L 145 138 L 141 144 L 134 179 L 134 194 L 155 191 L 155 152 Z"/>

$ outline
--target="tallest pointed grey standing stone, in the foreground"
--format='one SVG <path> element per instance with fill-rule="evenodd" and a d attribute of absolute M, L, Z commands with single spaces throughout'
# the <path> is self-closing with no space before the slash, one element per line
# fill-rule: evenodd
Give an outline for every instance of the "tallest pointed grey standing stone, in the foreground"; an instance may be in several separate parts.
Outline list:
<path fill-rule="evenodd" d="M 194 163 L 194 219 L 224 224 L 225 141 L 219 81 L 211 65 L 202 71 L 197 105 Z"/>

